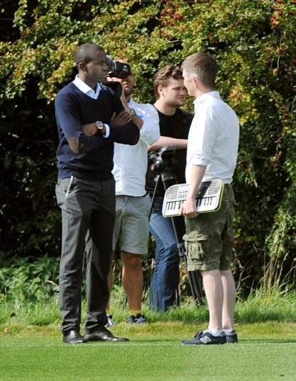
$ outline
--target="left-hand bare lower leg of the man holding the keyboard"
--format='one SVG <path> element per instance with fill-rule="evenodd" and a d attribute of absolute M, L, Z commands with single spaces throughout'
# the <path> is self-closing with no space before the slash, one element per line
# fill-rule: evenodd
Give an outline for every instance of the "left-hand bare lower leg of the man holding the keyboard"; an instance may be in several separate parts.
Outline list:
<path fill-rule="evenodd" d="M 201 271 L 209 306 L 209 328 L 222 329 L 224 290 L 219 270 Z"/>

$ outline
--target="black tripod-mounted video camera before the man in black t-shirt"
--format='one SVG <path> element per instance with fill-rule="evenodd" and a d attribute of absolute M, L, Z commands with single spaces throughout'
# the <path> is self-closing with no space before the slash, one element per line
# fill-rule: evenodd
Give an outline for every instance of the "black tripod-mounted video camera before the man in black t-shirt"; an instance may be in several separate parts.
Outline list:
<path fill-rule="evenodd" d="M 151 171 L 172 172 L 177 166 L 176 147 L 167 146 L 158 151 L 148 152 L 148 164 Z"/>

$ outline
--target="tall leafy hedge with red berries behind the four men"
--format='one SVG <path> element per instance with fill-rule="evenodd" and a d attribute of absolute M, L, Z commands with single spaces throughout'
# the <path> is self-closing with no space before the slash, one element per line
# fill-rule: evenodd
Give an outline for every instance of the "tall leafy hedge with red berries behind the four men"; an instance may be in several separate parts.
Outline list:
<path fill-rule="evenodd" d="M 0 27 L 0 251 L 4 256 L 59 254 L 53 101 L 76 73 L 77 47 L 95 42 L 114 59 L 127 59 L 139 102 L 153 102 L 151 79 L 159 67 L 207 51 L 219 64 L 217 90 L 241 125 L 234 178 L 239 202 L 237 280 L 244 292 L 258 285 L 271 256 L 278 258 L 275 273 L 280 271 L 282 280 L 291 281 L 296 1 L 7 0 L 0 4 L 6 18 Z M 187 99 L 186 108 L 193 110 L 192 99 Z"/>

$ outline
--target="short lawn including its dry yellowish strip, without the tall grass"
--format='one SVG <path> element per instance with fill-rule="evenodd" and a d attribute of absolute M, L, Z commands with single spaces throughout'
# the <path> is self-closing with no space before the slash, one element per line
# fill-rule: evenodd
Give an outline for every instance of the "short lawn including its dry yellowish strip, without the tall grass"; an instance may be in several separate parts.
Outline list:
<path fill-rule="evenodd" d="M 238 344 L 182 346 L 202 326 L 153 322 L 112 328 L 127 343 L 62 343 L 58 326 L 0 334 L 0 380 L 296 380 L 296 324 L 237 325 Z"/>

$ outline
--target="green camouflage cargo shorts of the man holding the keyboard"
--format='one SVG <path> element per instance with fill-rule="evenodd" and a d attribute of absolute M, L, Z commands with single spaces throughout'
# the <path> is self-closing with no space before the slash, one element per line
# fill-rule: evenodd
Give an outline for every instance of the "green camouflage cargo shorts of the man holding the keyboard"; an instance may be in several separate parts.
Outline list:
<path fill-rule="evenodd" d="M 231 184 L 224 184 L 221 207 L 216 212 L 200 213 L 186 218 L 185 248 L 187 270 L 220 270 L 231 268 L 234 248 L 232 222 L 236 200 Z"/>

